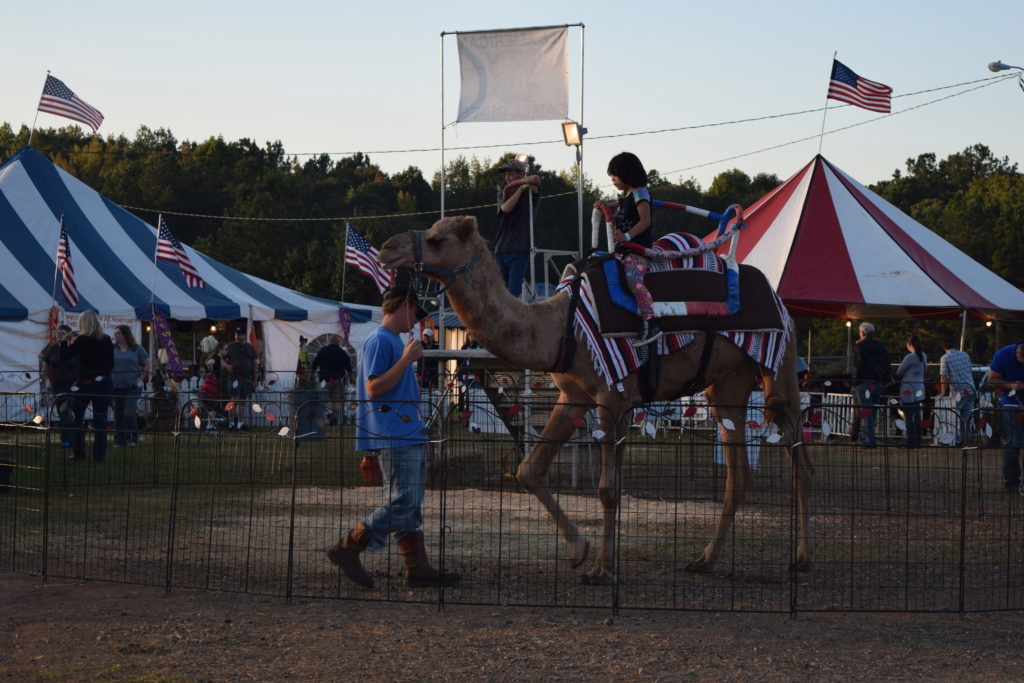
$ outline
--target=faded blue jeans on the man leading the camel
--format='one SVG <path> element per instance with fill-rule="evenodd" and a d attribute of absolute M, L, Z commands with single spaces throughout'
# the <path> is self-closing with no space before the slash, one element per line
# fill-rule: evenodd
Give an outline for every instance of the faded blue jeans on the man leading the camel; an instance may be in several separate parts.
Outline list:
<path fill-rule="evenodd" d="M 400 539 L 421 532 L 427 485 L 427 452 L 423 443 L 384 449 L 378 456 L 388 502 L 362 520 L 370 531 L 371 550 L 383 548 L 390 533 Z"/>

